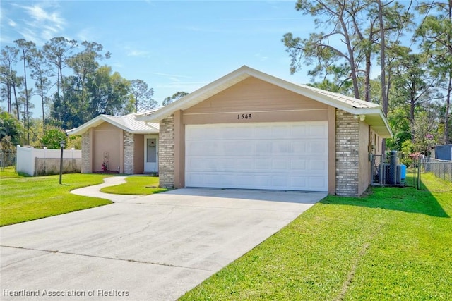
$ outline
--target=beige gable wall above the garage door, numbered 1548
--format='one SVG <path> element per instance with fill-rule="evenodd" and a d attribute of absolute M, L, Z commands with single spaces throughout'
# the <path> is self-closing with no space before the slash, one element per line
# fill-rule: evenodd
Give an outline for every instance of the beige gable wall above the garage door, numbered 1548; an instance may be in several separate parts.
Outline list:
<path fill-rule="evenodd" d="M 251 119 L 240 119 L 251 113 Z M 247 78 L 213 97 L 186 109 L 184 124 L 326 121 L 328 106 L 302 95 Z"/>

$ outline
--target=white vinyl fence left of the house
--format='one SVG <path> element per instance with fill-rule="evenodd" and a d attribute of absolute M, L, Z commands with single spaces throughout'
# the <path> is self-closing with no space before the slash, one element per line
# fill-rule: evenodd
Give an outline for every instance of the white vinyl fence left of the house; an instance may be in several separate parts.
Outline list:
<path fill-rule="evenodd" d="M 35 149 L 17 146 L 16 170 L 29 176 L 54 175 L 59 173 L 61 149 Z M 82 151 L 64 149 L 63 172 L 81 172 Z"/>

